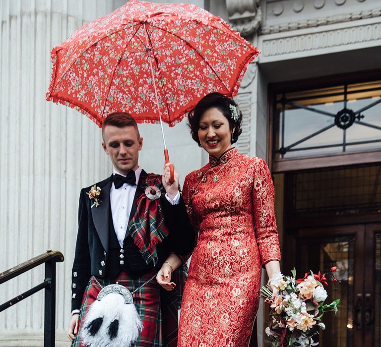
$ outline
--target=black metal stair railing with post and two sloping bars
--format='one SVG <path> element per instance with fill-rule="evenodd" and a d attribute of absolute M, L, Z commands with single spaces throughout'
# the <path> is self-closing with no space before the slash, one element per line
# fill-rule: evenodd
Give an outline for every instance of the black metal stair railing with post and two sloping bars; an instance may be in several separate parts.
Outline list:
<path fill-rule="evenodd" d="M 17 302 L 24 300 L 28 296 L 45 289 L 45 315 L 44 315 L 44 347 L 55 346 L 56 339 L 56 263 L 63 262 L 64 255 L 60 251 L 48 249 L 46 253 L 29 259 L 14 268 L 0 272 L 0 285 L 24 272 L 45 263 L 44 282 L 17 295 L 11 300 L 0 305 L 0 312 L 12 307 Z"/>

